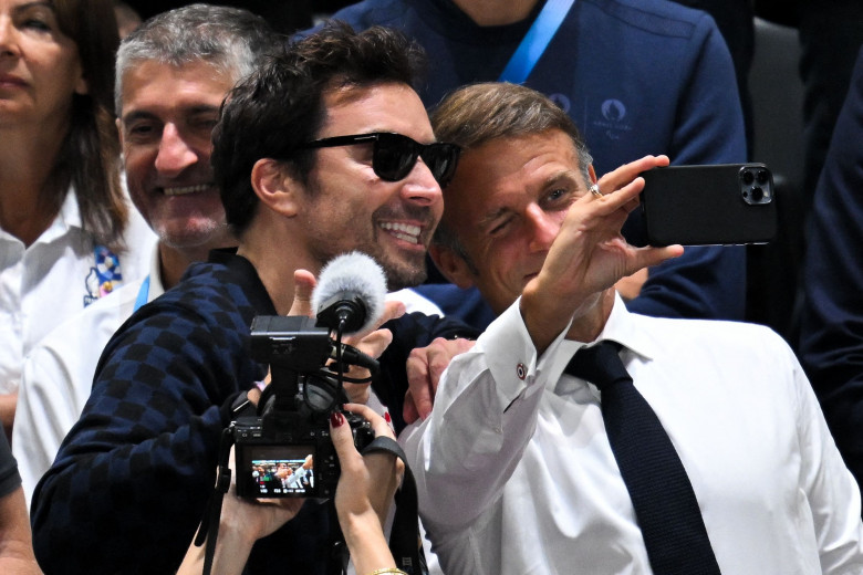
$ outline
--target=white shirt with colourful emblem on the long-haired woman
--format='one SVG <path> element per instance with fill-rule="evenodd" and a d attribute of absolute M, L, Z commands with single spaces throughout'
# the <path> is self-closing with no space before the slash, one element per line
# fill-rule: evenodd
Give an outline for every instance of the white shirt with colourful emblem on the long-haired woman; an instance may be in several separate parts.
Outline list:
<path fill-rule="evenodd" d="M 119 255 L 122 282 L 147 273 L 155 236 L 129 207 Z M 0 394 L 18 389 L 24 357 L 51 330 L 97 299 L 94 242 L 81 227 L 75 194 L 69 191 L 51 226 L 30 245 L 0 229 Z M 103 290 L 104 291 L 104 290 Z"/>

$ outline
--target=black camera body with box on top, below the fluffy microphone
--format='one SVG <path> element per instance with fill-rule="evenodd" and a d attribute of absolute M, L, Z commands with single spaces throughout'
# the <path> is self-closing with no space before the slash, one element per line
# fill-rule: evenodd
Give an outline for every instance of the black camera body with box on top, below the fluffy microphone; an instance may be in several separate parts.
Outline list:
<path fill-rule="evenodd" d="M 344 391 L 321 369 L 331 358 L 329 330 L 303 316 L 258 316 L 252 357 L 270 364 L 258 416 L 232 424 L 237 494 L 248 499 L 331 498 L 340 467 L 330 437 L 332 404 Z M 374 439 L 368 421 L 344 414 L 358 450 Z"/>

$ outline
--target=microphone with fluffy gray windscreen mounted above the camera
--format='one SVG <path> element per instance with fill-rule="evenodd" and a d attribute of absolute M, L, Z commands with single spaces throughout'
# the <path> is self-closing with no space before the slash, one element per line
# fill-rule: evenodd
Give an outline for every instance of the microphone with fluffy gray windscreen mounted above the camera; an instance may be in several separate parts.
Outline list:
<path fill-rule="evenodd" d="M 386 276 L 374 259 L 362 252 L 333 258 L 318 279 L 312 292 L 312 309 L 318 325 L 343 334 L 372 327 L 384 311 Z"/>

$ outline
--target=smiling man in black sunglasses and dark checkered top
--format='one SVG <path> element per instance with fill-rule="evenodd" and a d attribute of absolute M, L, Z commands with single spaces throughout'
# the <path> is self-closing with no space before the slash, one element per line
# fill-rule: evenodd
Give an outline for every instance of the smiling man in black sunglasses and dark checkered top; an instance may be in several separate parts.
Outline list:
<path fill-rule="evenodd" d="M 34 496 L 40 561 L 64 573 L 176 571 L 235 399 L 267 373 L 249 357 L 253 316 L 288 314 L 311 274 L 346 251 L 377 260 L 391 291 L 423 281 L 458 148 L 435 142 L 410 87 L 416 50 L 385 29 L 330 28 L 229 93 L 211 163 L 239 247 L 193 265 L 107 344 L 83 415 Z M 391 302 L 384 316 L 403 310 Z M 409 349 L 464 332 L 418 314 L 387 327 L 392 336 L 375 331 L 357 346 L 381 356 L 373 387 L 398 428 Z M 326 509 L 306 501 L 254 546 L 249 571 L 278 561 L 332 573 Z"/>

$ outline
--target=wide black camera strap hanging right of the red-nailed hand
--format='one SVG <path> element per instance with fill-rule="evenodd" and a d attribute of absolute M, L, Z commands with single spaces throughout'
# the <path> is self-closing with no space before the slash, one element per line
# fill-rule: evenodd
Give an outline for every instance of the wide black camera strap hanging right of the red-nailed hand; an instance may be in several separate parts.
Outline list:
<path fill-rule="evenodd" d="M 408 575 L 425 575 L 428 573 L 423 545 L 419 539 L 419 521 L 417 515 L 416 481 L 410 466 L 407 464 L 402 446 L 392 438 L 378 436 L 363 449 L 363 454 L 374 451 L 386 451 L 394 454 L 405 464 L 405 477 L 402 487 L 395 493 L 395 518 L 393 531 L 389 534 L 389 551 L 393 553 L 396 566 Z"/>

